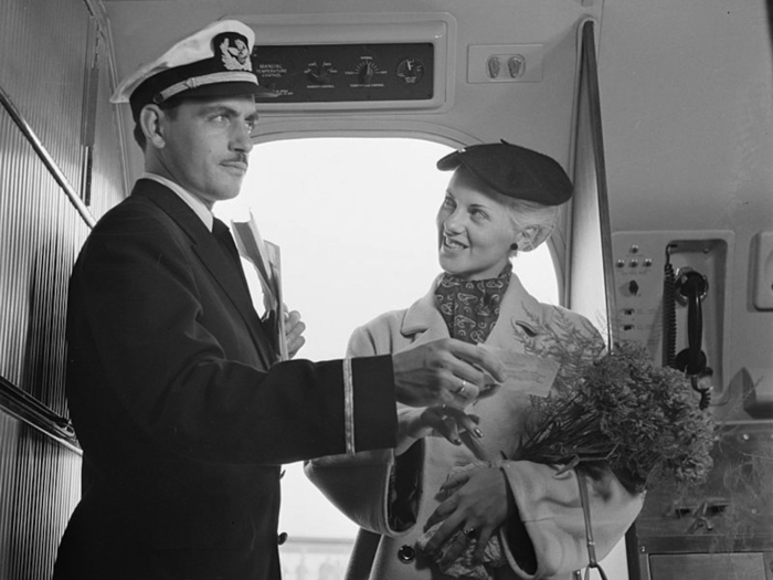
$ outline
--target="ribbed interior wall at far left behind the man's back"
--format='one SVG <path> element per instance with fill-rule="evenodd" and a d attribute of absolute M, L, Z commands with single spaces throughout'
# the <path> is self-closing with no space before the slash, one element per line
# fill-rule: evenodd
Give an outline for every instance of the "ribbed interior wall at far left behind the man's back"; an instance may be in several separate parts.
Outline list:
<path fill-rule="evenodd" d="M 105 28 L 82 0 L 0 3 L 0 578 L 49 578 L 81 496 L 67 280 L 124 196 Z"/>

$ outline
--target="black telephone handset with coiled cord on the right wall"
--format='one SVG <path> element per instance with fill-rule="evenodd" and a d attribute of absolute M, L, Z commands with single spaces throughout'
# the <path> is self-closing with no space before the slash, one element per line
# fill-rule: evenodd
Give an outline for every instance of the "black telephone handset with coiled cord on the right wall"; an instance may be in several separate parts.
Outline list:
<path fill-rule="evenodd" d="M 705 275 L 691 267 L 679 268 L 674 275 L 670 263 L 673 245 L 666 247 L 666 266 L 663 292 L 664 313 L 664 365 L 684 371 L 689 378 L 692 389 L 700 393 L 700 408 L 706 409 L 710 403 L 710 389 L 700 387 L 699 379 L 710 377 L 713 370 L 708 367 L 706 352 L 701 349 L 703 338 L 703 315 L 701 302 L 709 289 Z M 675 355 L 676 350 L 676 303 L 687 306 L 687 348 Z"/>

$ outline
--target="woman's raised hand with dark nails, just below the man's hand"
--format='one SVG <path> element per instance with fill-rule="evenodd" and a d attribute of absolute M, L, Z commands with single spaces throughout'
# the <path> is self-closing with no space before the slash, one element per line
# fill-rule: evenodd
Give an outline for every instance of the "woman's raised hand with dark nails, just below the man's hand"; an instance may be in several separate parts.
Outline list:
<path fill-rule="evenodd" d="M 459 433 L 467 431 L 470 436 L 483 437 L 478 429 L 480 418 L 465 413 L 464 409 L 458 409 L 449 404 L 437 407 L 426 407 L 424 409 L 410 409 L 400 414 L 400 444 L 395 449 L 395 454 L 401 455 L 417 439 L 425 437 L 433 432 L 437 432 L 454 445 L 460 445 Z"/>

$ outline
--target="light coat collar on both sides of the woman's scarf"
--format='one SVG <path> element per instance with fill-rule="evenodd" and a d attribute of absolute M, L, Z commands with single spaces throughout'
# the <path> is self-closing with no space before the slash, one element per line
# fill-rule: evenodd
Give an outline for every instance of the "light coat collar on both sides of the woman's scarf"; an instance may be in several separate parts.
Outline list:
<path fill-rule="evenodd" d="M 435 306 L 435 288 L 441 277 L 442 274 L 434 280 L 430 292 L 416 300 L 405 313 L 401 327 L 401 333 L 404 336 L 423 333 L 422 339 L 426 340 L 448 337 L 446 324 Z M 532 336 L 540 334 L 544 325 L 549 323 L 549 308 L 543 308 L 537 298 L 526 291 L 518 276 L 511 274 L 507 292 L 502 297 L 499 318 L 486 342 L 511 342 L 512 339 L 509 337 L 513 333 L 512 325 L 520 326 Z"/>

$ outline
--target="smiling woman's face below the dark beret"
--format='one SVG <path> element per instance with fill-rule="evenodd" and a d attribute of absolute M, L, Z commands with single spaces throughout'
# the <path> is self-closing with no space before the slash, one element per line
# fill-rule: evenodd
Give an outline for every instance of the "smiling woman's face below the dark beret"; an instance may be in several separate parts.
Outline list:
<path fill-rule="evenodd" d="M 441 267 L 464 280 L 496 277 L 516 241 L 508 209 L 481 192 L 467 170 L 457 169 L 437 212 Z"/>

